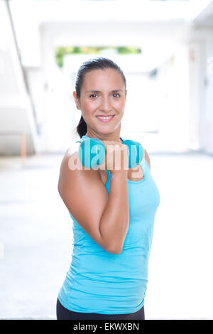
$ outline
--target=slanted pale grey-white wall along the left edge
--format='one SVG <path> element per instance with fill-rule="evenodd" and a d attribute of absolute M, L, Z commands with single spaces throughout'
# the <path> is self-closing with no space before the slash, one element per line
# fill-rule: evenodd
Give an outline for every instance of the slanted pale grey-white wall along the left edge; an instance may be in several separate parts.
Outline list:
<path fill-rule="evenodd" d="M 21 153 L 21 134 L 27 152 L 38 149 L 33 109 L 23 79 L 6 2 L 0 1 L 0 153 Z"/>

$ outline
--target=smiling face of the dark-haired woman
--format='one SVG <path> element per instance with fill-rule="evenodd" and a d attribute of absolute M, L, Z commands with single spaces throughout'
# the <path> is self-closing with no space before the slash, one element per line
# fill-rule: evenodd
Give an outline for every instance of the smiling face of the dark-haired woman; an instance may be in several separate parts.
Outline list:
<path fill-rule="evenodd" d="M 75 93 L 75 92 L 74 92 Z M 126 102 L 125 85 L 121 74 L 111 68 L 92 70 L 84 75 L 80 99 L 74 94 L 77 108 L 87 123 L 87 130 L 109 134 L 116 130 L 124 115 Z M 97 116 L 112 116 L 102 122 Z"/>

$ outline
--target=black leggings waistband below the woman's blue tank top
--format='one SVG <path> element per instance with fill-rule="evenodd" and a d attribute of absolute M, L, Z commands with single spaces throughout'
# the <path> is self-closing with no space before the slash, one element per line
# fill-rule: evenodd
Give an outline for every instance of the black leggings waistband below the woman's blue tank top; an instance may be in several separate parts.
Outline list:
<path fill-rule="evenodd" d="M 145 320 L 144 316 L 144 306 L 137 312 L 134 313 L 126 313 L 126 314 L 100 314 L 100 313 L 78 313 L 74 311 L 67 310 L 60 301 L 57 299 L 56 304 L 56 315 L 57 320 L 120 320 L 120 319 L 126 319 L 126 320 Z"/>

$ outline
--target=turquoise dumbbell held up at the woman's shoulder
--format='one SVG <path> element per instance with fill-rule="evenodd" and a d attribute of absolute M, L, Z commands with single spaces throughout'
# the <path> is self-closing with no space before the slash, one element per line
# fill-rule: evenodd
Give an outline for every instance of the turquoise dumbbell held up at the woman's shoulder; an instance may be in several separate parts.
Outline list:
<path fill-rule="evenodd" d="M 129 168 L 136 167 L 143 159 L 143 147 L 138 141 L 125 140 L 124 145 L 128 148 Z M 82 166 L 97 168 L 105 159 L 105 146 L 99 139 L 87 138 L 80 144 L 78 156 Z"/>

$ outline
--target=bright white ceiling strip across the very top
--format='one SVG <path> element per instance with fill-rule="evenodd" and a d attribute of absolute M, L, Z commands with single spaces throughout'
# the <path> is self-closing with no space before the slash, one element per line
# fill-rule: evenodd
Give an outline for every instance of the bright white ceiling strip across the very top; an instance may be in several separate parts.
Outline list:
<path fill-rule="evenodd" d="M 17 16 L 38 22 L 168 22 L 192 21 L 212 0 L 11 0 Z"/>

